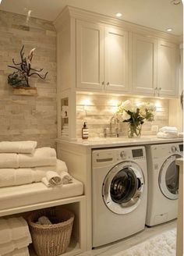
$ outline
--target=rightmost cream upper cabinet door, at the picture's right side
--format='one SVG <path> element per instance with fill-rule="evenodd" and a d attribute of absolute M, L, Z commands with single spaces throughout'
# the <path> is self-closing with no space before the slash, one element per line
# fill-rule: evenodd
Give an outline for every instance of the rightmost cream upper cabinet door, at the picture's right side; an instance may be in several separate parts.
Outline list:
<path fill-rule="evenodd" d="M 157 88 L 159 95 L 174 96 L 176 85 L 176 45 L 158 42 Z"/>

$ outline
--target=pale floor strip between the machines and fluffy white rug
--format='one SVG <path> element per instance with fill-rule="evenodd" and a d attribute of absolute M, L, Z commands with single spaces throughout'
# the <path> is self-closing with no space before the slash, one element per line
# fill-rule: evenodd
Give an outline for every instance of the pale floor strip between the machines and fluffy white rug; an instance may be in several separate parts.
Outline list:
<path fill-rule="evenodd" d="M 136 233 L 135 235 L 129 236 L 128 238 L 123 240 L 119 240 L 118 242 L 95 248 L 92 251 L 84 252 L 83 254 L 79 254 L 78 256 L 113 256 L 114 254 L 124 251 L 129 247 L 133 247 L 136 244 L 142 243 L 144 240 L 147 240 L 152 236 L 157 236 L 158 234 L 163 233 L 169 229 L 173 229 L 175 227 L 176 220 L 151 228 L 145 227 L 145 229 L 140 233 Z"/>

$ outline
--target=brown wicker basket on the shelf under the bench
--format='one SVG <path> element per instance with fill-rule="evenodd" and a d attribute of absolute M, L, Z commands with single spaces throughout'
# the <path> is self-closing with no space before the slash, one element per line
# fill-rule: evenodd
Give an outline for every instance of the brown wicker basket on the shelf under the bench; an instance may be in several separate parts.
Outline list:
<path fill-rule="evenodd" d="M 47 216 L 53 224 L 37 224 L 37 219 Z M 73 229 L 73 212 L 62 208 L 60 212 L 55 208 L 43 209 L 32 212 L 28 218 L 30 234 L 32 236 L 34 250 L 38 256 L 58 256 L 63 254 L 69 246 Z"/>

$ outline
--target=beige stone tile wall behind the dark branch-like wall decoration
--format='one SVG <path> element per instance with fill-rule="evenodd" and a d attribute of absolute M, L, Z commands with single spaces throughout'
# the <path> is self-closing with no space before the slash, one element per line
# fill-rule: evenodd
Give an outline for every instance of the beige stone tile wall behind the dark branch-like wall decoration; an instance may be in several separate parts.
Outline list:
<path fill-rule="evenodd" d="M 16 96 L 7 83 L 13 72 L 12 58 L 19 62 L 32 48 L 35 69 L 48 71 L 46 80 L 31 76 L 37 96 Z M 0 140 L 37 140 L 38 146 L 55 147 L 56 123 L 56 32 L 52 23 L 0 11 Z"/>

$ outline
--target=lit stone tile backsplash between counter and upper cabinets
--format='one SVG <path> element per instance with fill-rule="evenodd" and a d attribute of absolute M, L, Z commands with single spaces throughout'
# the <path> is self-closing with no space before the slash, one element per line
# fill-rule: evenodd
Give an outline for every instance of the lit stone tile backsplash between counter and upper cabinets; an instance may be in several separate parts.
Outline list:
<path fill-rule="evenodd" d="M 168 126 L 168 105 L 167 99 L 156 98 L 129 98 L 129 97 L 115 97 L 107 95 L 76 95 L 76 134 L 81 138 L 81 129 L 83 122 L 87 121 L 90 137 L 102 137 L 104 128 L 110 127 L 110 120 L 113 116 L 118 102 L 131 100 L 134 103 L 141 101 L 153 102 L 157 111 L 155 112 L 154 122 L 143 123 L 142 134 L 154 135 L 156 132 L 151 130 L 151 126 Z M 115 132 L 115 124 L 112 125 L 112 131 Z M 127 123 L 120 124 L 120 135 L 127 135 Z"/>

